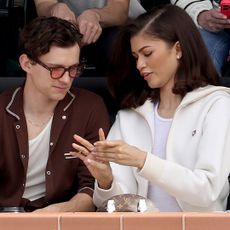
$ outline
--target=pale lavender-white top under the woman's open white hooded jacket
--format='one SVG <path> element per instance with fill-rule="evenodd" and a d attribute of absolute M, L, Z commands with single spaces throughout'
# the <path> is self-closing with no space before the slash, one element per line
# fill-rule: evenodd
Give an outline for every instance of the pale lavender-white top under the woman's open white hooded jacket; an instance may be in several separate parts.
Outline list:
<path fill-rule="evenodd" d="M 168 139 L 169 129 L 171 127 L 172 119 L 160 117 L 157 112 L 158 105 L 154 108 L 155 115 L 149 114 L 148 121 L 153 133 L 153 154 L 165 159 L 166 158 L 166 143 Z M 153 119 L 153 117 L 155 119 Z M 154 167 L 154 165 L 153 165 Z M 161 188 L 150 184 L 148 187 L 147 197 L 154 202 L 161 212 L 181 212 L 181 209 L 174 197 L 169 195 Z"/>

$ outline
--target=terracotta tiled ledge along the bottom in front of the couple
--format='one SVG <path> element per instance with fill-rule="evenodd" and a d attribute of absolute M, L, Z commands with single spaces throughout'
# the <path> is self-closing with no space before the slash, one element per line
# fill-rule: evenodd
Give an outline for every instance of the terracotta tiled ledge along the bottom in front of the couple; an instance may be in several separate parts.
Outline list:
<path fill-rule="evenodd" d="M 229 230 L 230 213 L 1 213 L 0 230 Z"/>

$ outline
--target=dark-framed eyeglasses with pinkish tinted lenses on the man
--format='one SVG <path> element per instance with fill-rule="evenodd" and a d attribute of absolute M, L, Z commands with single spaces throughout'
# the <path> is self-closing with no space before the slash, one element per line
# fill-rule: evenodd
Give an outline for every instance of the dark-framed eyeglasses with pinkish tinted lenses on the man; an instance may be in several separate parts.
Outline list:
<path fill-rule="evenodd" d="M 53 79 L 59 79 L 61 78 L 66 71 L 69 72 L 69 77 L 75 78 L 82 74 L 83 70 L 85 69 L 85 65 L 83 63 L 78 65 L 72 65 L 70 67 L 63 67 L 63 66 L 57 66 L 57 67 L 49 67 L 39 59 L 35 61 L 40 66 L 44 67 L 45 69 L 50 71 L 50 77 Z"/>

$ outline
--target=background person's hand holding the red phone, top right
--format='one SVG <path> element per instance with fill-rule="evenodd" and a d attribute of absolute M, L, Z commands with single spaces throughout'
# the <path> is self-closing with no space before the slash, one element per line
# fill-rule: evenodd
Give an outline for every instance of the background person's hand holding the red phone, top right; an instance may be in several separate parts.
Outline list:
<path fill-rule="evenodd" d="M 230 19 L 219 10 L 211 9 L 198 15 L 198 24 L 210 32 L 218 32 L 230 28 Z"/>

